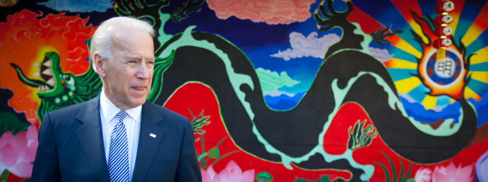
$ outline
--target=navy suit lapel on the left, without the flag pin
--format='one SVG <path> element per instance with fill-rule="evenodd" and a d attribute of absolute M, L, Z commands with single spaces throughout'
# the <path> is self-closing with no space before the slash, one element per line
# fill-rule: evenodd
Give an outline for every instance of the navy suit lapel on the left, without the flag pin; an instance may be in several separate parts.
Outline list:
<path fill-rule="evenodd" d="M 99 181 L 110 181 L 103 147 L 99 102 L 100 95 L 87 101 L 84 109 L 75 117 L 83 123 L 76 130 L 76 135 L 97 179 Z"/>

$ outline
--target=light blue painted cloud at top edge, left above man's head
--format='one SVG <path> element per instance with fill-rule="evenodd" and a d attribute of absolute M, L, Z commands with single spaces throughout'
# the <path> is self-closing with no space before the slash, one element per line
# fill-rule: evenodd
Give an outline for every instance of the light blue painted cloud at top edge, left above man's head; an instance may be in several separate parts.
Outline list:
<path fill-rule="evenodd" d="M 70 12 L 106 12 L 107 9 L 113 8 L 113 0 L 49 0 L 47 2 L 37 3 L 56 11 Z"/>

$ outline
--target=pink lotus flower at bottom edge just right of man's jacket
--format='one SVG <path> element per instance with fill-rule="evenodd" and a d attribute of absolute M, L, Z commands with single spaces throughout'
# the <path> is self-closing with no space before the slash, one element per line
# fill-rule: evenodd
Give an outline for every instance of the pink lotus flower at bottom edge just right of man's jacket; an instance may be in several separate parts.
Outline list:
<path fill-rule="evenodd" d="M 212 166 L 209 166 L 207 170 L 200 169 L 200 171 L 202 172 L 202 182 L 254 181 L 254 169 L 242 172 L 240 167 L 232 160 L 219 173 L 216 173 Z"/>

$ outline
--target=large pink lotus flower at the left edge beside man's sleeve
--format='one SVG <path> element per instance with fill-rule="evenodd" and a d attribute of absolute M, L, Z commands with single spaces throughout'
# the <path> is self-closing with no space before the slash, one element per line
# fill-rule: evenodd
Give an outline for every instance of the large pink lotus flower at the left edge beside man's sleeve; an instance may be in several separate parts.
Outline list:
<path fill-rule="evenodd" d="M 15 136 L 6 131 L 0 137 L 0 171 L 7 169 L 19 177 L 31 177 L 38 144 L 34 124 Z"/>

